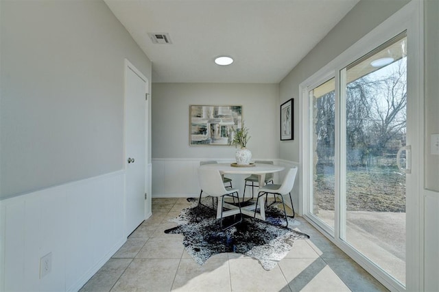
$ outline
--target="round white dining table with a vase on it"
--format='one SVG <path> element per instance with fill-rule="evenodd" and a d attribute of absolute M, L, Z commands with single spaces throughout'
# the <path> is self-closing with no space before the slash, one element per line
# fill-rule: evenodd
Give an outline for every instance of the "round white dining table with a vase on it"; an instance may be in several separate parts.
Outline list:
<path fill-rule="evenodd" d="M 259 178 L 259 186 L 265 185 L 265 175 L 275 172 L 281 172 L 285 168 L 281 165 L 273 165 L 266 163 L 250 163 L 250 165 L 237 165 L 236 163 L 211 163 L 200 165 L 200 168 L 214 168 L 219 171 L 220 174 L 255 174 Z M 244 198 L 243 198 L 244 201 Z M 230 204 L 224 202 L 223 207 L 227 209 L 238 209 L 236 204 Z M 256 203 L 246 204 L 241 207 L 241 213 L 250 217 L 257 217 L 260 220 L 265 221 L 265 199 L 263 196 L 259 200 L 259 213 L 255 214 L 257 209 Z"/>

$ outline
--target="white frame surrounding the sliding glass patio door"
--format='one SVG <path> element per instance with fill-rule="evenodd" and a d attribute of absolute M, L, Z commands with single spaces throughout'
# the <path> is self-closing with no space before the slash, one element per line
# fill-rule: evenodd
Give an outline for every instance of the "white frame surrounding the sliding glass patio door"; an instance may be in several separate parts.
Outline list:
<path fill-rule="evenodd" d="M 307 215 L 309 210 L 308 194 L 310 192 L 309 183 L 312 179 L 309 168 L 309 98 L 308 90 L 313 85 L 327 77 L 335 76 L 335 92 L 337 88 L 337 79 L 340 77 L 340 70 L 348 66 L 351 62 L 359 59 L 372 49 L 375 49 L 383 42 L 393 36 L 407 30 L 407 94 L 416 96 L 407 100 L 407 111 L 410 111 L 411 117 L 407 116 L 407 128 L 411 133 L 407 133 L 407 144 L 412 145 L 412 174 L 410 174 L 410 183 L 407 183 L 406 194 L 411 194 L 406 198 L 406 284 L 403 287 L 399 282 L 394 280 L 388 274 L 385 274 L 374 263 L 358 254 L 350 245 L 340 240 L 340 217 L 335 214 L 335 234 L 331 234 L 328 228 L 322 228 L 318 225 L 315 218 Z M 423 88 L 423 1 L 412 0 L 401 10 L 383 21 L 375 29 L 372 29 L 366 36 L 353 44 L 338 57 L 329 62 L 314 75 L 300 83 L 299 85 L 299 120 L 302 120 L 302 126 L 299 127 L 300 147 L 299 158 L 302 168 L 300 180 L 301 204 L 300 211 L 307 221 L 318 228 L 328 239 L 341 248 L 354 261 L 359 263 L 379 282 L 392 291 L 423 291 L 424 276 L 424 222 L 423 222 L 423 178 L 424 178 L 424 123 L 420 117 L 424 116 L 424 88 Z M 318 84 L 317 84 L 318 85 Z M 335 106 L 339 107 L 337 104 Z M 335 127 L 340 127 L 340 113 L 335 115 Z M 340 129 L 340 128 L 339 128 Z M 410 135 L 410 137 L 409 137 Z M 340 145 L 340 133 L 335 135 L 336 144 Z M 337 147 L 339 148 L 339 147 Z M 337 153 L 336 153 L 337 155 Z M 338 153 L 340 157 L 340 152 Z M 335 165 L 335 173 L 340 177 L 340 163 Z M 337 188 L 335 191 L 339 191 Z M 340 200 L 335 196 L 335 204 L 340 208 Z M 410 252 L 407 252 L 410 251 Z"/>

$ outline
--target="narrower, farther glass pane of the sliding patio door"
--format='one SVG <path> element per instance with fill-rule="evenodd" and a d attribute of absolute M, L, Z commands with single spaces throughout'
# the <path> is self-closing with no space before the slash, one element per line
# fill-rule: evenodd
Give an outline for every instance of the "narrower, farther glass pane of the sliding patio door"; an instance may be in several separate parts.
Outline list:
<path fill-rule="evenodd" d="M 312 169 L 309 212 L 332 230 L 335 222 L 335 79 L 309 91 Z"/>

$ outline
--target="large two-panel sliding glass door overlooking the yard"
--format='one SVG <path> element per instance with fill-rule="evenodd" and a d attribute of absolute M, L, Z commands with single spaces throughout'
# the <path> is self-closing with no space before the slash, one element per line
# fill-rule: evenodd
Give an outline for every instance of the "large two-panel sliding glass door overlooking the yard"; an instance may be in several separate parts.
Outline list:
<path fill-rule="evenodd" d="M 420 168 L 410 174 L 411 158 L 422 134 L 408 36 L 381 38 L 301 84 L 304 215 L 396 289 L 405 289 L 407 258 L 416 263 L 406 252 L 406 207 L 416 202 Z"/>

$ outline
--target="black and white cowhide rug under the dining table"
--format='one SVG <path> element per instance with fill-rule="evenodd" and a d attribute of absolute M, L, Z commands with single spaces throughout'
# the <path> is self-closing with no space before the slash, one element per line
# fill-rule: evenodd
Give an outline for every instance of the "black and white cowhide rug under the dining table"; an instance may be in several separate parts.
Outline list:
<path fill-rule="evenodd" d="M 304 233 L 281 227 L 285 226 L 285 216 L 276 207 L 265 209 L 265 222 L 244 215 L 241 224 L 221 230 L 219 220 L 215 218 L 216 211 L 198 206 L 196 199 L 188 200 L 193 206 L 183 209 L 171 220 L 178 226 L 165 230 L 165 233 L 183 235 L 183 245 L 199 265 L 215 254 L 236 252 L 257 259 L 265 270 L 270 270 L 288 254 L 294 240 L 309 238 Z M 203 203 L 209 202 L 212 204 L 208 198 Z M 233 216 L 227 220 L 233 220 Z M 299 224 L 292 218 L 288 220 L 291 228 Z"/>

